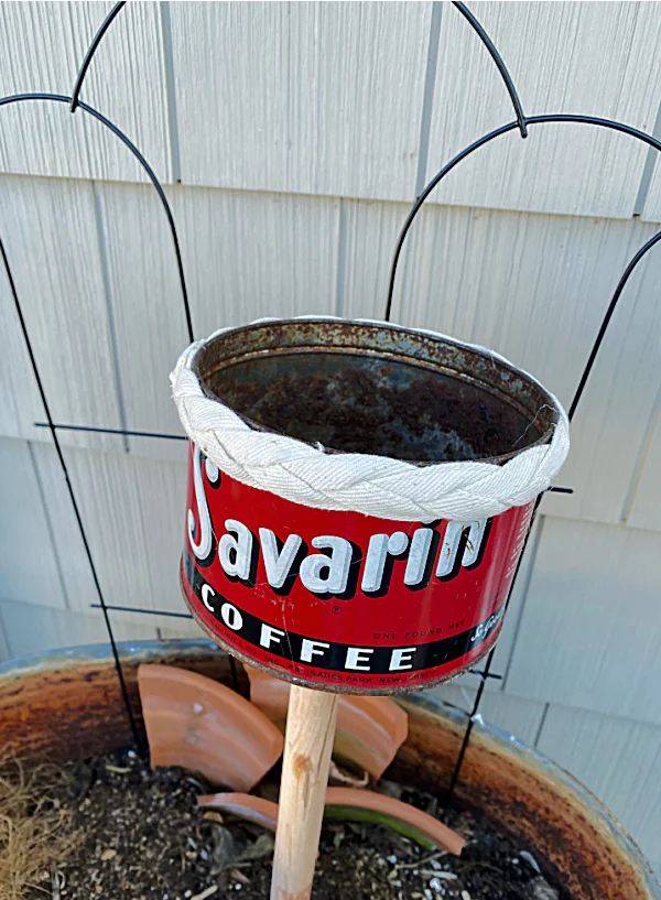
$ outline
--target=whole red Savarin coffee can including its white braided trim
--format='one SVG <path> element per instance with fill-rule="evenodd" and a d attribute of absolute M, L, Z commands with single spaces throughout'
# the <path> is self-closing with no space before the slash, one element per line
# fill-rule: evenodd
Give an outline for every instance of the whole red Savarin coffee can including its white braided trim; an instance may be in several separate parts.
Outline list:
<path fill-rule="evenodd" d="M 303 318 L 219 332 L 172 381 L 182 588 L 219 646 L 359 694 L 429 687 L 494 646 L 568 449 L 534 379 L 437 334 Z"/>

